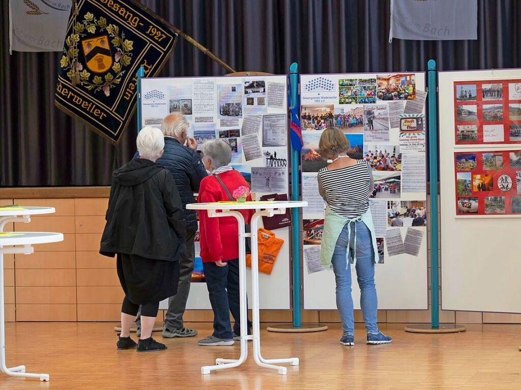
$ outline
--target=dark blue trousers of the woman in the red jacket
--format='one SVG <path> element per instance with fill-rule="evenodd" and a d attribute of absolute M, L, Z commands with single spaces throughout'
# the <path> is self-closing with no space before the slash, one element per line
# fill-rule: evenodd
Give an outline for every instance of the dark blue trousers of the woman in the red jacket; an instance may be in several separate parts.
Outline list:
<path fill-rule="evenodd" d="M 233 333 L 241 335 L 241 310 L 239 301 L 239 260 L 230 260 L 225 267 L 215 263 L 203 263 L 206 287 L 210 304 L 214 311 L 214 333 L 219 339 L 231 340 Z M 235 320 L 233 333 L 230 323 L 230 311 Z M 248 334 L 252 323 L 248 320 Z"/>

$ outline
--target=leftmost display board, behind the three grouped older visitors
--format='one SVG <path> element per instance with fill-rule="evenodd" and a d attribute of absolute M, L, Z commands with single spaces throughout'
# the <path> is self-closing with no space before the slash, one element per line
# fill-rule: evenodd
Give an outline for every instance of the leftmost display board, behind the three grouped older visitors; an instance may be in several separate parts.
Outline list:
<path fill-rule="evenodd" d="M 182 114 L 190 123 L 189 136 L 199 145 L 215 138 L 228 142 L 231 165 L 251 185 L 254 199 L 289 195 L 286 75 L 154 77 L 140 82 L 141 126 L 160 128 L 168 113 Z M 272 231 L 284 244 L 271 275 L 259 275 L 259 304 L 261 309 L 289 309 L 289 228 Z M 198 249 L 196 242 L 196 266 L 187 309 L 211 309 Z M 248 274 L 250 280 L 250 270 Z M 251 291 L 250 285 L 248 289 Z M 160 308 L 167 308 L 166 301 Z"/>

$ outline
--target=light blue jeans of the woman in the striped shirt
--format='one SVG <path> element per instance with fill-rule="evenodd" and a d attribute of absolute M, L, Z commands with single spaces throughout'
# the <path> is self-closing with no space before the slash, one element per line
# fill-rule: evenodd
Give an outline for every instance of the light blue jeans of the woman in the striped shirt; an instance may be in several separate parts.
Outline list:
<path fill-rule="evenodd" d="M 348 228 L 351 225 L 351 237 L 348 243 Z M 355 241 L 356 225 L 356 248 Z M 349 264 L 346 255 L 349 248 Z M 375 259 L 371 232 L 362 221 L 346 224 L 334 247 L 333 263 L 334 277 L 337 281 L 337 308 L 342 321 L 344 333 L 353 334 L 355 320 L 353 316 L 353 297 L 351 296 L 351 259 L 356 249 L 356 276 L 360 287 L 360 306 L 364 315 L 365 327 L 368 332 L 377 333 L 376 310 L 378 298 L 375 287 Z"/>

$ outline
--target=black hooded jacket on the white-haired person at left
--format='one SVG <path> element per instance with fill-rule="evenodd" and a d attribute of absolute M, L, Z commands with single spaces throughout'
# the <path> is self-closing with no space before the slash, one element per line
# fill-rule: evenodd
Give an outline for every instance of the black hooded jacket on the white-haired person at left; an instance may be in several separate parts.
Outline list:
<path fill-rule="evenodd" d="M 185 220 L 176 183 L 161 165 L 131 160 L 112 174 L 100 253 L 177 261 L 185 251 Z"/>

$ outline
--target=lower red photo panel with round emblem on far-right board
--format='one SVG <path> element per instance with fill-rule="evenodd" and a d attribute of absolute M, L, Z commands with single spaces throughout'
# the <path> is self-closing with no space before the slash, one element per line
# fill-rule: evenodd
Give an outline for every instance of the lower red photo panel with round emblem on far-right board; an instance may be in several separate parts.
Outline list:
<path fill-rule="evenodd" d="M 521 216 L 521 150 L 454 153 L 456 215 Z"/>

